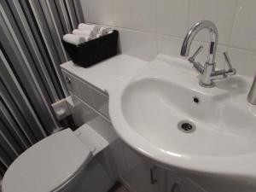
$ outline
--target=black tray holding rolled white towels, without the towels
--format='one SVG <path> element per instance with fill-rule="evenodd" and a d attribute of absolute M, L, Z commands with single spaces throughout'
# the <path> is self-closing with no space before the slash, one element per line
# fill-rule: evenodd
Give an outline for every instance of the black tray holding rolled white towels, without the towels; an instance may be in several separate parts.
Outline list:
<path fill-rule="evenodd" d="M 83 44 L 69 44 L 61 40 L 67 54 L 72 61 L 81 67 L 90 67 L 97 62 L 103 61 L 117 55 L 119 32 L 113 30 L 112 33 L 85 42 Z"/>

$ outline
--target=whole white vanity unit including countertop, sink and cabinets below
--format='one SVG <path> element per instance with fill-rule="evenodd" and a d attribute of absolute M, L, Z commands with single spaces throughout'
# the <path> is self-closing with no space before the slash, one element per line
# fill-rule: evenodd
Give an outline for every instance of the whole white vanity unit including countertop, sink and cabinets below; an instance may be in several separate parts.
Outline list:
<path fill-rule="evenodd" d="M 215 90 L 204 90 L 187 61 L 166 55 L 151 63 L 118 55 L 90 68 L 69 61 L 61 70 L 72 95 L 75 124 L 100 119 L 98 122 L 114 126 L 96 130 L 102 137 L 114 140 L 113 130 L 121 137 L 104 155 L 112 177 L 131 191 L 255 191 L 255 181 L 246 172 L 253 162 L 248 159 L 244 166 L 239 162 L 245 160 L 242 151 L 253 144 L 253 132 L 247 129 L 241 134 L 242 122 L 234 119 L 249 108 L 241 105 L 247 86 L 241 91 L 236 87 L 247 79 L 237 77 L 218 83 Z M 230 113 L 221 115 L 224 110 Z M 183 119 L 186 122 L 179 127 Z M 247 120 L 250 122 L 253 119 Z"/>

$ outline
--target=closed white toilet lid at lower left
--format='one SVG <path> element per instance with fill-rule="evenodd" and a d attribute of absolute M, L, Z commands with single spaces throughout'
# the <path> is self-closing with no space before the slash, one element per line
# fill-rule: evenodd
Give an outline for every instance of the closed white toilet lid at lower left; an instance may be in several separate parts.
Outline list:
<path fill-rule="evenodd" d="M 3 192 L 50 192 L 64 185 L 91 158 L 91 153 L 70 129 L 44 138 L 9 166 Z"/>

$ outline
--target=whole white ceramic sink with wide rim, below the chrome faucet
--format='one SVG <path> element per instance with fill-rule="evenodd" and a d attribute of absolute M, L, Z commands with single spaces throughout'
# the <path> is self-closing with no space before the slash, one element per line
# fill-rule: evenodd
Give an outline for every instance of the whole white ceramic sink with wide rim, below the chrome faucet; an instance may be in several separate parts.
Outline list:
<path fill-rule="evenodd" d="M 247 102 L 251 82 L 236 75 L 203 88 L 188 61 L 159 55 L 108 87 L 109 113 L 125 143 L 151 160 L 256 178 L 256 108 Z"/>

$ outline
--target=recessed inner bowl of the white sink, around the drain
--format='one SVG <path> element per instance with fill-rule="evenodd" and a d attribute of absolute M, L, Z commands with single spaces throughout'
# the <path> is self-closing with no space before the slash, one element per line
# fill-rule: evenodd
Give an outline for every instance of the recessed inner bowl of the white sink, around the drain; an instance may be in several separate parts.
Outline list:
<path fill-rule="evenodd" d="M 235 117 L 241 117 L 245 111 L 196 90 L 161 79 L 143 79 L 130 84 L 121 99 L 122 113 L 131 129 L 163 150 L 184 156 L 223 156 L 247 154 L 249 146 L 256 144 L 256 129 L 244 129 L 247 121 L 251 127 L 256 125 L 253 116 L 233 122 L 226 115 L 235 112 Z M 193 123 L 195 131 L 177 129 L 181 121 Z"/>

